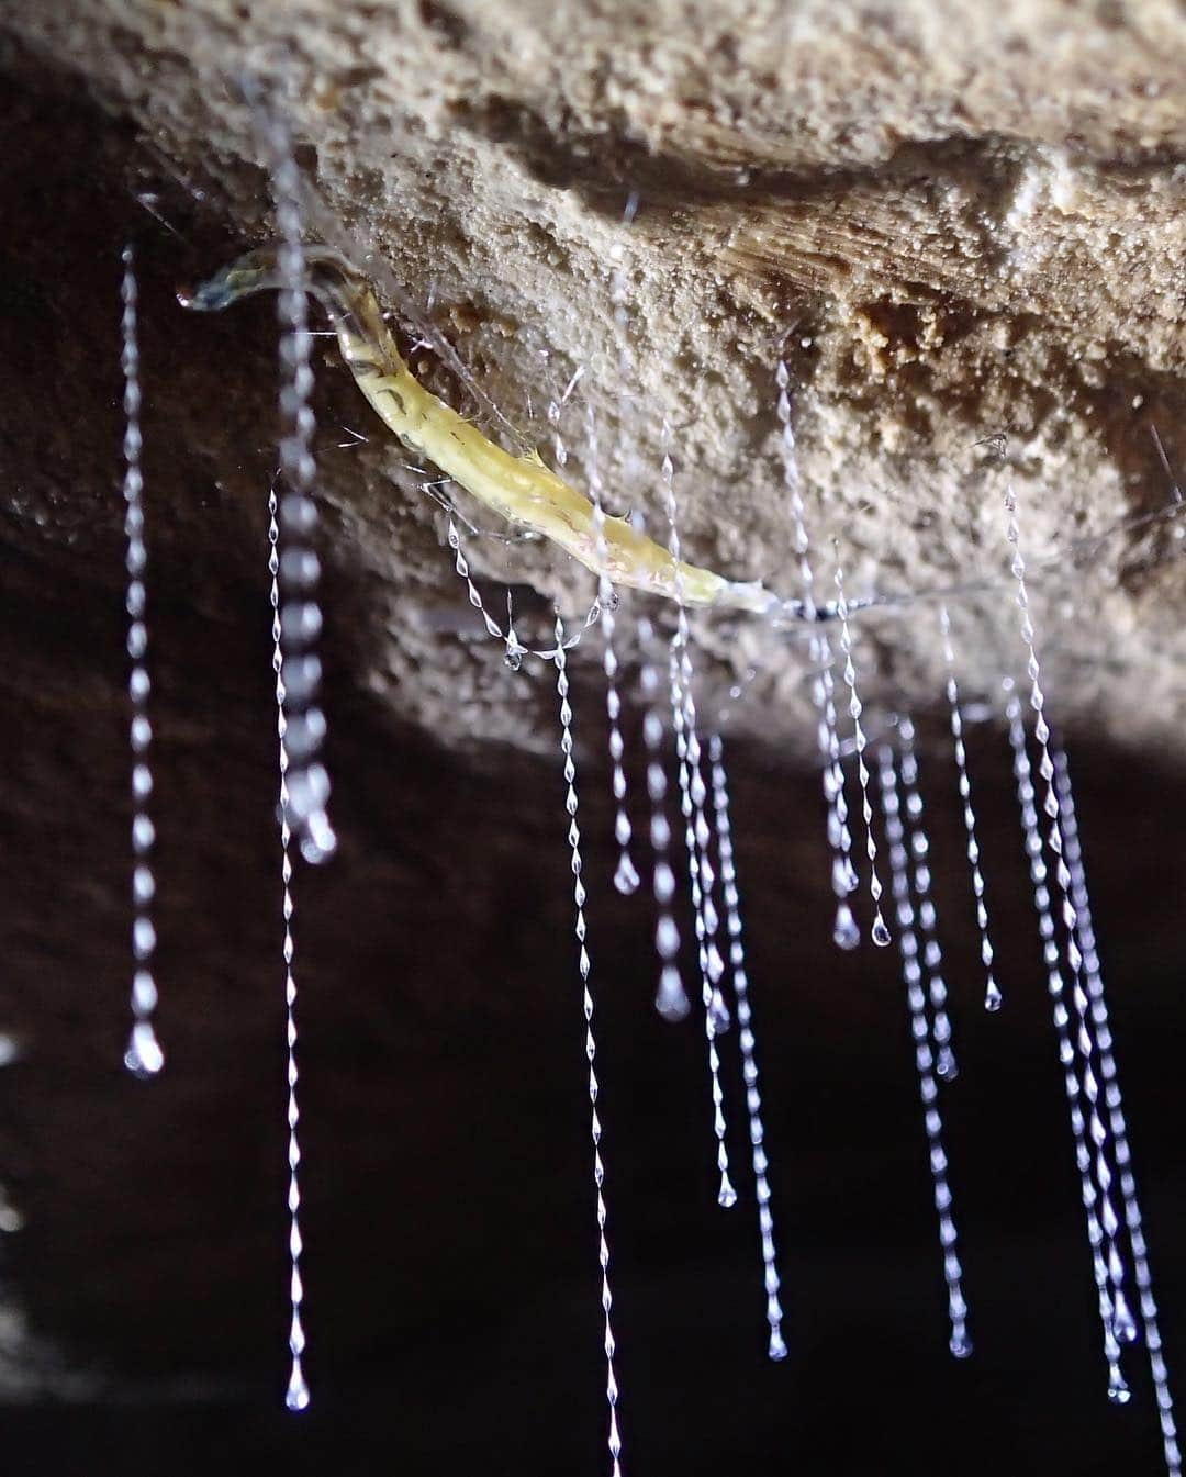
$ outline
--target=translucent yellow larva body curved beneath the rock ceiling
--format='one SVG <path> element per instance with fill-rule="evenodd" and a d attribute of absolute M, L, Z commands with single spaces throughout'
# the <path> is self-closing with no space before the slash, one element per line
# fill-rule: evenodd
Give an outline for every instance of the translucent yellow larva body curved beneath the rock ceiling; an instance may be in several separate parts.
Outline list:
<path fill-rule="evenodd" d="M 687 606 L 774 613 L 777 597 L 759 583 L 728 580 L 696 564 L 676 563 L 625 518 L 606 517 L 598 535 L 592 502 L 538 453 L 515 456 L 496 446 L 417 380 L 380 310 L 375 289 L 338 253 L 307 248 L 310 291 L 326 306 L 343 357 L 375 414 L 417 456 L 508 523 L 551 539 L 613 585 L 648 591 Z M 192 295 L 186 307 L 219 310 L 278 287 L 273 251 L 251 251 Z"/>

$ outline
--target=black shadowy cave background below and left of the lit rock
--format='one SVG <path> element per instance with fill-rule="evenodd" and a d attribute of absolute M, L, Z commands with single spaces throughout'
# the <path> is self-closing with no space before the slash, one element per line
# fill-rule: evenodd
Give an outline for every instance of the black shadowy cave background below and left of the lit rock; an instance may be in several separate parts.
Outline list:
<path fill-rule="evenodd" d="M 28 80 L 0 109 L 0 1028 L 22 1046 L 0 1071 L 0 1182 L 25 1217 L 0 1247 L 0 1276 L 40 1350 L 24 1384 L 0 1387 L 6 1470 L 603 1473 L 558 759 L 456 752 L 353 682 L 366 592 L 332 560 L 341 851 L 297 877 L 313 1406 L 282 1409 L 263 499 L 217 486 L 244 467 L 264 486 L 269 318 L 198 334 L 176 312 L 179 273 L 223 260 L 227 241 L 217 223 L 186 222 L 177 242 L 136 204 L 130 133 Z M 130 808 L 117 288 L 128 236 L 142 273 L 168 1055 L 152 1084 L 118 1065 Z M 947 1353 L 897 954 L 832 947 L 817 777 L 771 749 L 731 750 L 792 1349 L 775 1368 L 736 1043 L 724 1055 L 741 1202 L 724 1213 L 702 1029 L 696 1016 L 666 1027 L 650 1007 L 650 907 L 609 883 L 603 705 L 588 654 L 575 665 L 626 1470 L 1158 1471 L 1143 1350 L 1128 1359 L 1133 1403 L 1118 1411 L 1103 1394 L 998 725 L 970 736 L 1006 993 L 991 1018 L 950 750 L 941 715 L 919 719 L 962 1063 L 942 1106 L 976 1343 L 963 1365 Z M 549 681 L 523 675 L 545 713 Z M 1173 1375 L 1186 1360 L 1186 774 L 1090 731 L 1068 737 Z M 93 1372 L 89 1394 L 64 1397 L 47 1347 Z"/>

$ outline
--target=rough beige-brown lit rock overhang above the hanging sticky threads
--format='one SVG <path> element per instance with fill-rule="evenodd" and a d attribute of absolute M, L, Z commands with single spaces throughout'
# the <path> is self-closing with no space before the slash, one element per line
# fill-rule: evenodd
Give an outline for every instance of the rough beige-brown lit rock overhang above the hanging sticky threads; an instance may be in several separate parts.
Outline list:
<path fill-rule="evenodd" d="M 1170 0 L 18 0 L 6 27 L 18 74 L 81 83 L 124 130 L 128 229 L 164 273 L 192 281 L 272 233 L 244 100 L 254 78 L 292 120 L 321 202 L 310 232 L 346 232 L 356 257 L 385 263 L 471 387 L 431 346 L 414 352 L 418 372 L 492 434 L 507 434 L 495 406 L 554 464 L 567 453 L 579 486 L 592 408 L 610 510 L 659 533 L 666 422 L 691 557 L 792 597 L 772 387 L 784 356 L 824 583 L 834 538 L 852 594 L 905 597 L 863 620 L 883 706 L 935 691 L 935 607 L 919 592 L 964 591 L 956 645 L 981 691 L 1016 650 L 1012 477 L 1063 722 L 1174 743 L 1182 524 L 1105 536 L 1167 507 L 1186 455 L 1186 22 Z M 179 354 L 217 354 L 253 385 L 270 372 L 267 312 L 216 325 L 160 307 Z M 408 465 L 325 357 L 328 538 L 374 595 L 359 679 L 450 741 L 532 743 L 533 724 L 508 718 L 514 684 L 471 640 L 431 468 Z M 208 476 L 244 504 L 260 476 L 245 458 L 272 430 L 266 394 L 253 405 L 254 436 L 205 433 Z M 483 529 L 470 557 L 490 598 L 517 586 L 541 642 L 551 598 L 588 604 L 583 572 L 548 545 L 507 544 L 456 501 Z M 706 626 L 715 697 L 758 671 L 749 706 L 786 715 L 780 737 L 796 741 L 793 637 Z M 758 727 L 744 706 L 734 721 Z"/>

